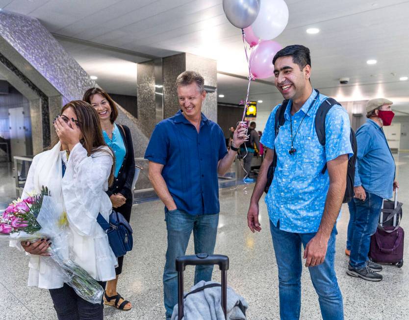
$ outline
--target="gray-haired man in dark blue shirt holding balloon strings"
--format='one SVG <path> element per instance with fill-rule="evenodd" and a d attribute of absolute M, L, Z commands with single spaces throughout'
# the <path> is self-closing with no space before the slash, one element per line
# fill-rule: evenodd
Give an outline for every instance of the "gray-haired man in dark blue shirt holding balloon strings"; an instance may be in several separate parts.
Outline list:
<path fill-rule="evenodd" d="M 178 303 L 175 260 L 185 254 L 192 230 L 195 253 L 213 254 L 220 208 L 218 175 L 228 171 L 246 138 L 246 129 L 239 125 L 227 151 L 222 129 L 201 112 L 204 82 L 192 71 L 178 76 L 181 109 L 156 125 L 145 152 L 153 188 L 165 204 L 168 248 L 163 290 L 167 319 Z M 212 271 L 213 266 L 196 267 L 195 284 L 210 281 Z"/>

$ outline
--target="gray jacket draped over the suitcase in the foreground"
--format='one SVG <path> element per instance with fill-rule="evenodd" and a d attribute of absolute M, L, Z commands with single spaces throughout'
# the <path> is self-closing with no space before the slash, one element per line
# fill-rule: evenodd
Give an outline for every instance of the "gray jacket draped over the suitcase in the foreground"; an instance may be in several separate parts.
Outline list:
<path fill-rule="evenodd" d="M 216 284 L 213 281 L 200 281 L 191 288 L 191 291 L 208 284 Z M 241 307 L 241 308 L 240 308 Z M 237 295 L 233 289 L 227 288 L 227 320 L 246 320 L 247 301 Z M 175 305 L 172 320 L 178 319 L 178 305 Z M 184 299 L 184 311 L 182 320 L 224 320 L 225 316 L 221 305 L 221 287 L 205 288 L 197 293 L 187 295 Z"/>

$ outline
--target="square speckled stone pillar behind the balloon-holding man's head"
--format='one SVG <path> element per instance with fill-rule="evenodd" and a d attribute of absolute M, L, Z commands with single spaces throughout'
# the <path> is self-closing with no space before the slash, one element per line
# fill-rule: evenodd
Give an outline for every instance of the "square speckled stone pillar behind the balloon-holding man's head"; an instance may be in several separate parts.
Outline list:
<path fill-rule="evenodd" d="M 216 60 L 190 53 L 180 53 L 163 58 L 164 117 L 172 117 L 179 110 L 175 81 L 183 71 L 196 71 L 205 78 L 205 85 L 217 87 Z M 217 93 L 208 93 L 202 105 L 205 116 L 217 122 Z"/>

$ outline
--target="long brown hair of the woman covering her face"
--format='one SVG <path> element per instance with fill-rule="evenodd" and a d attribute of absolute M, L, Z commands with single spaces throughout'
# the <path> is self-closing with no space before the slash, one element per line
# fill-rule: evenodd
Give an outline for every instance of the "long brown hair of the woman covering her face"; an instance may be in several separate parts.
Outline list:
<path fill-rule="evenodd" d="M 97 111 L 91 107 L 88 102 L 81 100 L 74 100 L 68 102 L 61 109 L 61 114 L 64 113 L 68 108 L 72 108 L 77 116 L 78 127 L 82 133 L 82 139 L 80 143 L 82 147 L 87 150 L 87 155 L 90 156 L 94 152 L 105 151 L 101 149 L 102 146 L 106 146 L 105 140 L 102 136 L 102 128 L 100 123 L 100 118 L 98 117 Z M 55 146 L 58 143 L 57 140 L 53 143 Z M 109 153 L 108 151 L 106 151 Z M 114 182 L 114 169 L 115 169 L 115 158 L 113 152 L 109 153 L 112 156 L 113 164 L 111 167 L 111 172 L 108 178 L 108 184 L 111 185 Z"/>

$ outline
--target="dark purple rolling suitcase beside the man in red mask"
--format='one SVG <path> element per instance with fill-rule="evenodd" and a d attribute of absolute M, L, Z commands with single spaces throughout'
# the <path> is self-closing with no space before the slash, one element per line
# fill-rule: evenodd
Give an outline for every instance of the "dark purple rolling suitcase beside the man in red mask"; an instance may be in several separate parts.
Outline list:
<path fill-rule="evenodd" d="M 383 200 L 378 228 L 371 237 L 369 257 L 378 263 L 403 266 L 403 247 L 405 232 L 400 227 L 402 220 L 402 202 L 398 202 L 398 189 L 395 199 Z"/>

